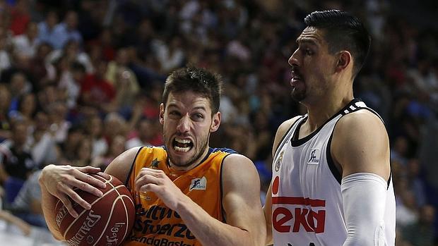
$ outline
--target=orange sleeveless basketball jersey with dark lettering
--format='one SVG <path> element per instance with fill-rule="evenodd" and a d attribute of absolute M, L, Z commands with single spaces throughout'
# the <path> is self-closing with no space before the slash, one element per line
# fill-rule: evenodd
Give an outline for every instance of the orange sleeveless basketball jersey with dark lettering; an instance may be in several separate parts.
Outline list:
<path fill-rule="evenodd" d="M 136 221 L 124 245 L 201 245 L 176 211 L 167 208 L 153 192 L 135 190 L 135 178 L 143 167 L 161 169 L 185 195 L 213 218 L 225 222 L 220 173 L 223 160 L 232 153 L 235 153 L 232 149 L 210 148 L 206 158 L 195 168 L 175 171 L 170 168 L 163 147 L 142 147 L 126 180 L 126 186 L 131 190 L 136 203 Z"/>

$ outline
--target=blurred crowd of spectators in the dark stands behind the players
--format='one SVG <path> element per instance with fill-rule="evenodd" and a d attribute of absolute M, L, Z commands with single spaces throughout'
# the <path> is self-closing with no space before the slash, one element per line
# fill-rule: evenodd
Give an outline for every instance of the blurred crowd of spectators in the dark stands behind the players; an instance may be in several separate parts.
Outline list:
<path fill-rule="evenodd" d="M 394 11 L 398 1 L 350 2 L 0 0 L 4 209 L 44 227 L 37 170 L 105 169 L 125 149 L 161 145 L 163 83 L 187 64 L 223 76 L 223 121 L 211 146 L 254 161 L 263 199 L 276 129 L 305 113 L 290 98 L 288 65 L 303 18 L 338 8 L 364 20 L 373 38 L 354 90 L 389 132 L 396 245 L 438 245 L 438 21 L 410 21 L 419 17 Z"/>

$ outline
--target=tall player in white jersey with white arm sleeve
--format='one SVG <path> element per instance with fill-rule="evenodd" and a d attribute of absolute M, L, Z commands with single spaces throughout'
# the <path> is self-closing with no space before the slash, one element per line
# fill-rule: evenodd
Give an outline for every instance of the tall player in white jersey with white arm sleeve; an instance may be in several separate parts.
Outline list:
<path fill-rule="evenodd" d="M 353 96 L 369 34 L 342 11 L 316 11 L 304 23 L 289 64 L 292 97 L 307 114 L 276 134 L 266 243 L 394 245 L 388 135 L 379 115 Z"/>

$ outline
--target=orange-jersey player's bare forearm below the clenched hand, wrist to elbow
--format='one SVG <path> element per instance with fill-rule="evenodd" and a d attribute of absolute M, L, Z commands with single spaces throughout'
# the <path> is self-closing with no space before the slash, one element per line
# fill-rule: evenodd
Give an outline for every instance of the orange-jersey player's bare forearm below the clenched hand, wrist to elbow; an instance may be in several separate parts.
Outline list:
<path fill-rule="evenodd" d="M 261 245 L 255 235 L 214 219 L 189 197 L 180 202 L 177 213 L 202 245 Z"/>

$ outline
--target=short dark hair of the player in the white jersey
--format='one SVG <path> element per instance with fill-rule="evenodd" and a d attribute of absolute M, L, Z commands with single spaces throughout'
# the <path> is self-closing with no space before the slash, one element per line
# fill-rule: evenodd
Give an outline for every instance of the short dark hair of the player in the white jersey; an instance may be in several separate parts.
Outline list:
<path fill-rule="evenodd" d="M 365 63 L 371 37 L 363 23 L 350 13 L 338 10 L 314 11 L 304 18 L 308 27 L 324 30 L 330 54 L 347 50 L 353 56 L 353 78 Z"/>

